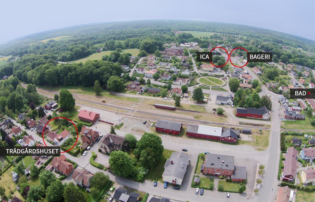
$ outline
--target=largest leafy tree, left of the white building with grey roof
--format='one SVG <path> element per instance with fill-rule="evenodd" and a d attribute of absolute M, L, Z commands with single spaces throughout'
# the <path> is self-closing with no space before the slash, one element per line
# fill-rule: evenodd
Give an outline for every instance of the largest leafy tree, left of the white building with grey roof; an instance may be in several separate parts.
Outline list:
<path fill-rule="evenodd" d="M 164 147 L 160 136 L 144 133 L 137 142 L 134 154 L 145 168 L 151 168 L 161 159 Z"/>

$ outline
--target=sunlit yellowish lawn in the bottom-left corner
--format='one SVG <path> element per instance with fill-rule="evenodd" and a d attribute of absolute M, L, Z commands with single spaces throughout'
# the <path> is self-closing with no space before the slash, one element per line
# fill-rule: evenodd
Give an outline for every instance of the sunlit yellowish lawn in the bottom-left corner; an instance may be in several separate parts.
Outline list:
<path fill-rule="evenodd" d="M 0 184 L 1 186 L 5 189 L 5 194 L 7 197 L 9 196 L 16 196 L 19 199 L 22 198 L 22 196 L 20 195 L 20 193 L 16 190 L 15 186 L 16 184 L 14 184 L 13 180 L 12 180 L 12 170 L 13 170 L 13 166 L 11 166 L 8 170 L 6 170 L 2 175 L 1 175 L 1 180 L 0 180 Z M 10 192 L 14 191 L 13 194 L 11 194 Z"/>

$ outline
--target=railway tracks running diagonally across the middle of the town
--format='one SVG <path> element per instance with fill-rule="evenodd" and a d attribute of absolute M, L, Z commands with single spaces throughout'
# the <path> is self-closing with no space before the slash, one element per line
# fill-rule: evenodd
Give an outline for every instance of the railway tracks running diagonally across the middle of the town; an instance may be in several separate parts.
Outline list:
<path fill-rule="evenodd" d="M 23 87 L 26 87 L 25 84 L 22 85 Z M 49 95 L 47 93 L 52 93 L 52 94 L 58 94 L 58 91 L 53 91 L 53 90 L 46 90 L 46 89 L 39 89 L 37 88 L 37 91 L 39 91 L 40 94 L 45 95 L 47 97 L 53 98 L 52 95 Z M 46 92 L 46 93 L 45 93 Z M 83 101 L 83 102 L 89 102 L 91 104 L 103 106 L 103 107 L 98 107 L 98 106 L 93 106 L 96 109 L 104 110 L 107 112 L 112 112 L 112 113 L 117 113 L 119 115 L 123 115 L 125 117 L 131 117 L 131 118 L 136 118 L 136 119 L 141 119 L 141 120 L 150 120 L 150 121 L 157 121 L 161 118 L 169 121 L 174 121 L 175 119 L 182 122 L 183 125 L 187 126 L 188 124 L 206 124 L 206 125 L 221 125 L 221 126 L 227 126 L 227 127 L 232 127 L 232 128 L 251 128 L 251 129 L 265 129 L 265 130 L 286 130 L 286 131 L 304 131 L 304 132 L 315 132 L 315 130 L 301 130 L 301 129 L 282 129 L 282 128 L 270 128 L 270 127 L 263 127 L 263 126 L 253 126 L 253 125 L 244 125 L 244 124 L 228 124 L 228 123 L 220 123 L 220 122 L 213 122 L 213 121 L 206 121 L 206 120 L 198 120 L 195 119 L 191 115 L 183 115 L 183 114 L 175 114 L 175 113 L 170 113 L 170 112 L 163 112 L 163 111 L 152 111 L 151 109 L 143 109 L 140 107 L 134 107 L 131 105 L 137 105 L 137 106 L 146 106 L 146 107 L 152 107 L 152 109 L 155 109 L 154 106 L 151 105 L 146 105 L 146 104 L 140 104 L 140 103 L 134 103 L 130 101 L 121 101 L 117 99 L 106 99 L 109 100 L 110 102 L 102 103 L 101 100 L 102 98 L 96 98 L 94 96 L 90 95 L 84 95 L 84 94 L 72 94 L 73 97 L 77 101 Z M 96 99 L 95 99 L 96 98 Z M 95 101 L 99 100 L 99 101 Z M 119 102 L 122 104 L 117 104 L 114 102 Z M 129 105 L 128 105 L 129 104 Z M 90 105 L 80 103 L 82 106 L 86 107 L 91 107 Z M 137 114 L 130 114 L 130 113 L 124 113 L 124 112 L 118 112 L 115 110 L 111 110 L 109 108 L 104 108 L 104 107 L 111 107 L 111 108 L 116 108 L 120 109 L 123 111 L 129 111 L 132 113 L 141 113 L 143 115 L 137 115 Z M 199 114 L 199 115 L 208 115 L 211 116 L 210 113 L 201 113 L 201 112 L 189 112 L 190 114 Z M 218 115 L 216 115 L 218 116 Z"/>

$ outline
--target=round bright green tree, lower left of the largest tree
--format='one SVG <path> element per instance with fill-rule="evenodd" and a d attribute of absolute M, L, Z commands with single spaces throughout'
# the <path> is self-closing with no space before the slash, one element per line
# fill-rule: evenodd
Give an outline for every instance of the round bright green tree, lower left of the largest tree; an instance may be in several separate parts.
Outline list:
<path fill-rule="evenodd" d="M 128 153 L 113 151 L 110 154 L 108 162 L 111 170 L 119 176 L 129 177 L 135 175 L 134 162 Z"/>

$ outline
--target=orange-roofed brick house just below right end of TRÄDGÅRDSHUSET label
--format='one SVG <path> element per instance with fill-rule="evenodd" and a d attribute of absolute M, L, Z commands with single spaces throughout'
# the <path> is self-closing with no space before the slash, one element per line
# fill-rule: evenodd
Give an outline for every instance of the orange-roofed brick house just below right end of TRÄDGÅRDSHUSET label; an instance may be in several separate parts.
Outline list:
<path fill-rule="evenodd" d="M 48 165 L 45 170 L 56 170 L 63 175 L 68 176 L 73 170 L 73 164 L 69 163 L 66 156 L 62 154 L 60 157 L 54 157 L 51 164 Z"/>

